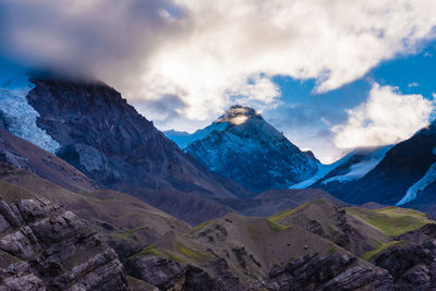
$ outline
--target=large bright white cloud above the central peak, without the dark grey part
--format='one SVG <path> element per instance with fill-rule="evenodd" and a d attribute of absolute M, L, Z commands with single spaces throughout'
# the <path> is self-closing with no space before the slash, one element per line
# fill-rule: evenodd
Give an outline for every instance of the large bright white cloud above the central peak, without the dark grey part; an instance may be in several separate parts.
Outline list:
<path fill-rule="evenodd" d="M 191 31 L 156 52 L 143 74 L 154 88 L 141 96 L 183 92 L 181 113 L 192 120 L 218 114 L 231 102 L 229 92 L 246 95 L 249 105 L 275 104 L 268 78 L 276 74 L 316 78 L 316 92 L 338 88 L 382 60 L 415 52 L 436 24 L 433 0 L 175 2 L 187 11 Z M 243 85 L 259 74 L 252 89 Z M 257 90 L 258 82 L 268 88 Z"/>

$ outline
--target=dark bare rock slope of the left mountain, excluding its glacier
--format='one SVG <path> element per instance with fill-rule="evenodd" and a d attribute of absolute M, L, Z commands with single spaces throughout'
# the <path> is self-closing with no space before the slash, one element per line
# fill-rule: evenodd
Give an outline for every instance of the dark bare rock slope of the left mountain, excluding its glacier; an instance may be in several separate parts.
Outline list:
<path fill-rule="evenodd" d="M 37 125 L 59 143 L 59 157 L 97 182 L 198 191 L 213 197 L 244 194 L 238 184 L 208 172 L 181 151 L 107 85 L 33 82 L 27 100 L 39 113 Z"/>

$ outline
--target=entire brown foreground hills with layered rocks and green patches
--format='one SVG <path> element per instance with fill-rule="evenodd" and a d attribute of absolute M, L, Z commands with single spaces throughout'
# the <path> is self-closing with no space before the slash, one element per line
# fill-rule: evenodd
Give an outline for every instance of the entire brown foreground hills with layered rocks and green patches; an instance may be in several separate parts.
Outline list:
<path fill-rule="evenodd" d="M 62 290 L 390 290 L 434 281 L 435 221 L 419 211 L 315 199 L 268 217 L 229 213 L 191 227 L 96 189 L 55 155 L 0 133 L 2 289 L 16 290 L 17 278 L 24 289 Z M 301 201 L 322 191 L 281 192 L 288 204 L 287 195 Z"/>

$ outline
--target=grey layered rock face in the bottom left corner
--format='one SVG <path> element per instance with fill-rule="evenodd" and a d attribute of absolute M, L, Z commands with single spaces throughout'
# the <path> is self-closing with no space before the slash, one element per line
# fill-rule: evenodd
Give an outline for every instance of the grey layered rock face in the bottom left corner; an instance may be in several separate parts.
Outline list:
<path fill-rule="evenodd" d="M 126 290 L 112 248 L 45 199 L 0 198 L 0 290 Z"/>

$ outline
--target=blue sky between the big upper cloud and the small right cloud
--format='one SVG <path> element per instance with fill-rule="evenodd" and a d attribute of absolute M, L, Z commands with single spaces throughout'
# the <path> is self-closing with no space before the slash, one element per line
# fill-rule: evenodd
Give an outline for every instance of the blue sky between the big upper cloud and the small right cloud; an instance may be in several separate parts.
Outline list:
<path fill-rule="evenodd" d="M 380 86 L 398 87 L 404 95 L 417 94 L 433 100 L 436 93 L 435 68 L 436 43 L 431 41 L 422 45 L 414 54 L 399 54 L 383 61 L 365 76 L 324 94 L 313 92 L 315 80 L 276 76 L 274 82 L 280 87 L 282 105 L 265 110 L 263 116 L 293 143 L 304 149 L 313 149 L 328 162 L 349 150 L 336 148 L 332 125 L 346 122 L 347 110 L 368 98 L 374 82 Z"/>

